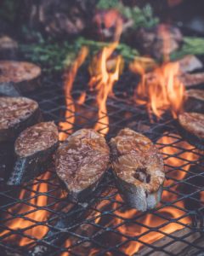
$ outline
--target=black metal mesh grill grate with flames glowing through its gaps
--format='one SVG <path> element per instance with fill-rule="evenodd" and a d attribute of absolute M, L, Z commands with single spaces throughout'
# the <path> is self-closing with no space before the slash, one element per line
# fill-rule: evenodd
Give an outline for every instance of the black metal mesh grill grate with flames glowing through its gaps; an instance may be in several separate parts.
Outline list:
<path fill-rule="evenodd" d="M 89 94 L 86 102 L 80 105 L 77 96 L 81 92 L 81 89 L 73 92 L 77 109 L 74 130 L 93 127 L 97 121 L 97 108 L 91 104 L 94 96 Z M 45 80 L 42 89 L 28 96 L 39 102 L 45 120 L 54 119 L 57 124 L 65 121 L 65 110 L 69 111 L 70 106 L 65 107 L 61 83 Z M 159 255 L 183 255 L 179 250 L 184 251 L 186 247 L 194 253 L 204 251 L 199 242 L 203 238 L 204 212 L 201 152 L 184 143 L 170 114 L 150 123 L 145 109 L 127 104 L 122 93 L 110 98 L 107 108 L 110 119 L 107 139 L 128 126 L 142 131 L 162 150 L 167 182 L 161 204 L 148 212 L 129 209 L 118 194 L 111 170 L 92 198 L 83 204 L 73 204 L 66 199 L 51 165 L 48 172 L 31 183 L 17 188 L 1 185 L 0 230 L 3 233 L 0 247 L 4 254 L 130 255 L 139 250 L 139 255 L 158 255 L 158 252 Z M 65 132 L 71 133 L 69 130 Z M 161 137 L 167 141 L 162 141 Z M 47 201 L 43 203 L 45 199 Z M 38 217 L 33 217 L 37 213 Z M 45 215 L 48 218 L 43 217 Z M 16 230 L 12 221 L 22 221 L 20 227 L 23 228 Z M 177 231 L 173 231 L 175 225 Z M 46 232 L 48 234 L 44 236 Z M 157 240 L 151 241 L 154 237 Z M 19 243 L 21 247 L 17 246 Z"/>

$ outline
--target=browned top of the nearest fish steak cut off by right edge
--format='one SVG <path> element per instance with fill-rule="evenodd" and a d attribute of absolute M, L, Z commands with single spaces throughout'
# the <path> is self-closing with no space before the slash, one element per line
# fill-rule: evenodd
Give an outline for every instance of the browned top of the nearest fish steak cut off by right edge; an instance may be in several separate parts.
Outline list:
<path fill-rule="evenodd" d="M 178 116 L 179 124 L 196 137 L 204 138 L 204 114 L 181 113 Z"/>

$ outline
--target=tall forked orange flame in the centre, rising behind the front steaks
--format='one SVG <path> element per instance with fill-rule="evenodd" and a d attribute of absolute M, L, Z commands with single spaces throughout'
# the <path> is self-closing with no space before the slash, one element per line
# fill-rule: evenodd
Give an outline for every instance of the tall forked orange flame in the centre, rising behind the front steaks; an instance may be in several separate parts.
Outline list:
<path fill-rule="evenodd" d="M 107 61 L 116 49 L 116 46 L 117 43 L 114 43 L 102 49 L 99 56 L 94 56 L 94 60 L 89 67 L 89 72 L 92 76 L 89 81 L 89 87 L 90 90 L 97 92 L 96 102 L 99 107 L 99 121 L 94 126 L 94 129 L 96 131 L 102 131 L 104 135 L 109 131 L 106 101 L 108 96 L 113 94 L 113 85 L 119 78 L 120 65 L 122 63 L 122 57 L 118 55 L 116 56 L 115 70 L 108 70 Z"/>

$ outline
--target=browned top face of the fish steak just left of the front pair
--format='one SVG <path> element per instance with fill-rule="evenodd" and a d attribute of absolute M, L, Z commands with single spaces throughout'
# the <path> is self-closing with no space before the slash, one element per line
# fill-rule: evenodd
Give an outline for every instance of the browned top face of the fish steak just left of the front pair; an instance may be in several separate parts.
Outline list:
<path fill-rule="evenodd" d="M 22 131 L 15 141 L 14 149 L 15 153 L 22 157 L 51 148 L 57 142 L 57 126 L 54 122 L 44 122 Z"/>

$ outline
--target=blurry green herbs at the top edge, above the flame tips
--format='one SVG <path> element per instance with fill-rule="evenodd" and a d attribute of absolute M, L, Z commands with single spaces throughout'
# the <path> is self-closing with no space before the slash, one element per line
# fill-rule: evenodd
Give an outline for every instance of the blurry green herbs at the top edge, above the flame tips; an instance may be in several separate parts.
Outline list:
<path fill-rule="evenodd" d="M 128 20 L 133 20 L 133 28 L 150 28 L 159 23 L 159 19 L 154 17 L 150 4 L 146 4 L 143 9 L 137 6 L 128 7 L 120 1 L 100 0 L 97 4 L 98 9 L 117 9 Z"/>

